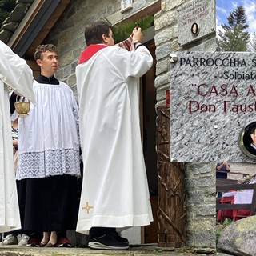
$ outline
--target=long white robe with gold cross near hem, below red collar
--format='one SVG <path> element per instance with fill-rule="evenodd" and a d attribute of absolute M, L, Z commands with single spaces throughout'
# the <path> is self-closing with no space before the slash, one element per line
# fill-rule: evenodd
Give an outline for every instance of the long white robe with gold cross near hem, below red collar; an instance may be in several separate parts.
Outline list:
<path fill-rule="evenodd" d="M 84 164 L 80 233 L 153 220 L 139 126 L 139 78 L 152 63 L 145 46 L 135 52 L 109 46 L 76 68 Z"/>

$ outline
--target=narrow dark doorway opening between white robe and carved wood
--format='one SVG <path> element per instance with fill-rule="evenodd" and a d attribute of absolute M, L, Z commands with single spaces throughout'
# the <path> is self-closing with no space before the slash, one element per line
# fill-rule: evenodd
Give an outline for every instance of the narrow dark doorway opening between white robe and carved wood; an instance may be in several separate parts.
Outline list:
<path fill-rule="evenodd" d="M 146 165 L 146 174 L 150 189 L 150 202 L 152 206 L 154 222 L 142 229 L 142 243 L 158 242 L 158 170 L 156 152 L 156 89 L 155 79 L 155 45 L 154 40 L 145 43 L 154 58 L 153 66 L 142 77 L 141 87 L 141 122 L 142 122 L 142 145 Z"/>

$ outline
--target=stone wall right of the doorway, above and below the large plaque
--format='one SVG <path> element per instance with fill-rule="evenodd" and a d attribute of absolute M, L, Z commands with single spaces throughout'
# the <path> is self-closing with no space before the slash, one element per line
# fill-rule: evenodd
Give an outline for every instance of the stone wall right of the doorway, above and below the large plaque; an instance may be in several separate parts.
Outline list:
<path fill-rule="evenodd" d="M 177 9 L 186 2 L 190 1 L 162 1 L 162 10 L 154 17 L 157 106 L 166 104 L 166 90 L 170 88 L 169 54 L 171 52 L 214 51 L 216 49 L 215 34 L 210 34 L 183 47 L 179 45 Z M 187 246 L 215 247 L 215 165 L 216 163 L 185 165 Z"/>

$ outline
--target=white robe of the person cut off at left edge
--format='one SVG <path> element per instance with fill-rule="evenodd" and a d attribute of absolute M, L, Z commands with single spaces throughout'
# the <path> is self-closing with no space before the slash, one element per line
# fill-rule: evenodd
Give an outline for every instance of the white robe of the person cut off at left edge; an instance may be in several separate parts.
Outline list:
<path fill-rule="evenodd" d="M 8 88 L 35 103 L 32 70 L 26 61 L 0 41 L 0 232 L 21 228 L 14 177 Z"/>

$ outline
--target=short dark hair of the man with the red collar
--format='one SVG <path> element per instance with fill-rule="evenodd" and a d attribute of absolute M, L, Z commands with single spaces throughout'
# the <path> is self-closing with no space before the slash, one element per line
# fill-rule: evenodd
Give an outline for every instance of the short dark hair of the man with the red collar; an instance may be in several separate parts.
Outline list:
<path fill-rule="evenodd" d="M 85 39 L 86 45 L 97 44 L 102 42 L 102 34 L 106 34 L 107 37 L 110 35 L 111 26 L 107 22 L 98 21 L 91 22 L 85 28 Z"/>

